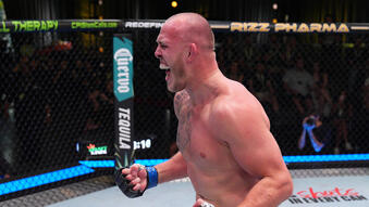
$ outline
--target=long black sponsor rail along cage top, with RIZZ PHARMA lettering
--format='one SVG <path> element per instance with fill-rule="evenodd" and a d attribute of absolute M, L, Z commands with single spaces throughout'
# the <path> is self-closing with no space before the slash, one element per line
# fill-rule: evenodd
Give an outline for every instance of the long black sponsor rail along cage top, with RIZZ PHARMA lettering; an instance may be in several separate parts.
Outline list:
<path fill-rule="evenodd" d="M 258 23 L 209 21 L 216 31 L 231 33 L 369 33 L 368 23 Z M 25 20 L 1 21 L 2 33 L 160 29 L 164 20 Z"/>

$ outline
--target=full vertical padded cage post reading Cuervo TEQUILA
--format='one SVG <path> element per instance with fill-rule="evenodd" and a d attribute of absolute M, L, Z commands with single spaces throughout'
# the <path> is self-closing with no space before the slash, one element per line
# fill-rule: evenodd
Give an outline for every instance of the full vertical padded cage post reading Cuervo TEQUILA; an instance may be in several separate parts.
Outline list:
<path fill-rule="evenodd" d="M 133 159 L 133 46 L 123 35 L 113 37 L 115 168 L 132 165 Z"/>

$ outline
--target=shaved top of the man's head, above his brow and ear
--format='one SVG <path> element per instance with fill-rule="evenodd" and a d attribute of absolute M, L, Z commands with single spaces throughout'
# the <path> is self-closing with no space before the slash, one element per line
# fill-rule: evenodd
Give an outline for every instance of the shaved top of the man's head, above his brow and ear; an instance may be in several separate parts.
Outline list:
<path fill-rule="evenodd" d="M 174 29 L 183 41 L 194 42 L 202 49 L 214 49 L 214 35 L 208 21 L 197 13 L 180 13 L 165 21 L 163 27 Z"/>

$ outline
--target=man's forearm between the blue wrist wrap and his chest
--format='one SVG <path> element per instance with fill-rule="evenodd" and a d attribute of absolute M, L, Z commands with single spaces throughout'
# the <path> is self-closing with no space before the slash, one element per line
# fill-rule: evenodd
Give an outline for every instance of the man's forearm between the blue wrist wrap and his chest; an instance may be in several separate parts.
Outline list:
<path fill-rule="evenodd" d="M 187 177 L 187 164 L 180 152 L 155 168 L 158 170 L 159 183 Z"/>

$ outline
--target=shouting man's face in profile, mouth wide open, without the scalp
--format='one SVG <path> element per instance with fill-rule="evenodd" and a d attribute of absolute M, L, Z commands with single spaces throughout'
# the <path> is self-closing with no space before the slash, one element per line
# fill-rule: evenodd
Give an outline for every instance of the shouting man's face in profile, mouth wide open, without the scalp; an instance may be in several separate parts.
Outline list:
<path fill-rule="evenodd" d="M 168 90 L 177 92 L 186 87 L 184 42 L 171 26 L 163 26 L 157 38 L 155 56 L 160 60 L 160 69 L 165 69 Z"/>

